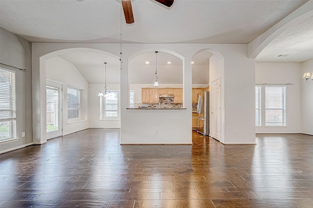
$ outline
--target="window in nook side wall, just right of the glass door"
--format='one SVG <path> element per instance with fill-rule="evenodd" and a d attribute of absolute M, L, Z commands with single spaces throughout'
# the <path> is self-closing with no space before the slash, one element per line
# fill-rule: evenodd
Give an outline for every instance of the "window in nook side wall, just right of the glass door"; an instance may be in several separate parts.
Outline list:
<path fill-rule="evenodd" d="M 80 117 L 80 90 L 67 87 L 67 119 Z"/>

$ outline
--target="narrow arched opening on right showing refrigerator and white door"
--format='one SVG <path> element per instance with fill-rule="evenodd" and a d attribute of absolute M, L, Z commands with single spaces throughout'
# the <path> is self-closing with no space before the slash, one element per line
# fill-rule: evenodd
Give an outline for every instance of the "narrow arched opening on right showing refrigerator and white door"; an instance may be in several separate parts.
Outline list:
<path fill-rule="evenodd" d="M 192 59 L 193 130 L 221 141 L 224 129 L 224 57 L 216 50 L 203 49 Z"/>

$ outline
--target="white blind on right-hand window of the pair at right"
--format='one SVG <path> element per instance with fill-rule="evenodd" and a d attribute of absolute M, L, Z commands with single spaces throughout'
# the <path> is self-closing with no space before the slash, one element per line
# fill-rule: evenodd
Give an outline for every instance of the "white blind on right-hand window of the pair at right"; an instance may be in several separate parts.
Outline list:
<path fill-rule="evenodd" d="M 286 86 L 266 86 L 265 102 L 265 125 L 286 125 Z"/>

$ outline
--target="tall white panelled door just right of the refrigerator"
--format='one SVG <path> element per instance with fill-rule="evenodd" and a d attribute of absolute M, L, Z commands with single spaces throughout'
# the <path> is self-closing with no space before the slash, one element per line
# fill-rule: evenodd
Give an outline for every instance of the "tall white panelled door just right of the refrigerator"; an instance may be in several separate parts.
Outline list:
<path fill-rule="evenodd" d="M 212 137 L 221 141 L 221 79 L 212 82 Z M 210 89 L 210 90 L 211 90 Z"/>

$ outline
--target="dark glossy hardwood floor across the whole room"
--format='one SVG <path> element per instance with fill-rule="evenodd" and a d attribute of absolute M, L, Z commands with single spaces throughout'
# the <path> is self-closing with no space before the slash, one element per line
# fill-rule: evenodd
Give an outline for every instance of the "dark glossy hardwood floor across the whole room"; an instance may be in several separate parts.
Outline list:
<path fill-rule="evenodd" d="M 313 208 L 313 136 L 119 145 L 88 129 L 0 155 L 1 208 Z"/>

